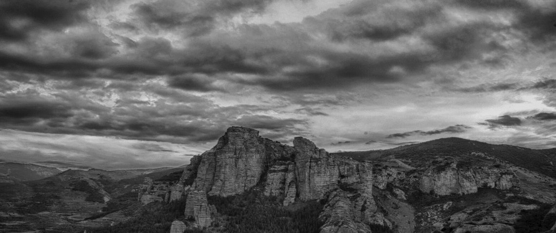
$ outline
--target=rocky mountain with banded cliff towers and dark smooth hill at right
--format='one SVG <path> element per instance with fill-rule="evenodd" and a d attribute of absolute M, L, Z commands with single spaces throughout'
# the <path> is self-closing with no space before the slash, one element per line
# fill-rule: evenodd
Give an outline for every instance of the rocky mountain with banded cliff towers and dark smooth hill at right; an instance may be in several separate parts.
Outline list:
<path fill-rule="evenodd" d="M 290 147 L 231 127 L 196 158 L 183 222 L 218 232 L 219 210 L 205 196 L 254 189 L 284 206 L 324 202 L 320 232 L 515 232 L 524 215 L 556 201 L 556 157 L 540 150 L 443 138 L 341 155 L 306 138 Z"/>

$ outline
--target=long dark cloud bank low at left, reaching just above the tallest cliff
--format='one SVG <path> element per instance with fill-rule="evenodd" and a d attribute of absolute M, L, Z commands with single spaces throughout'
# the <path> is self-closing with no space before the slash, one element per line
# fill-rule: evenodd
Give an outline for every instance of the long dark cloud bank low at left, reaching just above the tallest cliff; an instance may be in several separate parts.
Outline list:
<path fill-rule="evenodd" d="M 206 98 L 162 85 L 137 87 L 135 91 L 144 88 L 164 98 L 151 103 L 122 97 L 106 107 L 78 92 L 60 92 L 49 98 L 36 92 L 0 96 L 0 128 L 183 143 L 214 141 L 232 125 L 258 128 L 283 138 L 307 123 L 306 119 L 256 113 L 268 107 L 220 107 Z M 99 93 L 102 96 L 110 95 Z"/>

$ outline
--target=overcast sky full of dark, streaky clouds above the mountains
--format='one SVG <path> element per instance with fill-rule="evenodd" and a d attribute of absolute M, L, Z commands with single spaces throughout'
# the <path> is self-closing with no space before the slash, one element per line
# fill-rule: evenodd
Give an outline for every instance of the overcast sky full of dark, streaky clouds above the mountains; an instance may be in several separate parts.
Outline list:
<path fill-rule="evenodd" d="M 227 127 L 556 147 L 552 0 L 0 1 L 0 161 L 187 164 Z"/>

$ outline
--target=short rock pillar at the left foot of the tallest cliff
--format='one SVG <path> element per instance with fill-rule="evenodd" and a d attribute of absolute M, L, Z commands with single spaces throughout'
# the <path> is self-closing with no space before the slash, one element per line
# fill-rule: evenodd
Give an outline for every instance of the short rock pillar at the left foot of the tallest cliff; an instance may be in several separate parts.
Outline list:
<path fill-rule="evenodd" d="M 205 191 L 193 190 L 187 194 L 185 217 L 195 220 L 195 224 L 201 228 L 209 227 L 212 224 L 211 210 Z"/>

